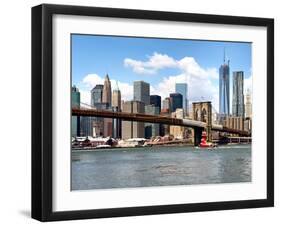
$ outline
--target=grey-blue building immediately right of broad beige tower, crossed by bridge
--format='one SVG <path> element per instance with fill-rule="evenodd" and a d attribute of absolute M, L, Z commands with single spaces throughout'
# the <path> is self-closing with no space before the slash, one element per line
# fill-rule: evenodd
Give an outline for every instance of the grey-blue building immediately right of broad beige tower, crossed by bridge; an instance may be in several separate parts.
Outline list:
<path fill-rule="evenodd" d="M 161 102 L 160 102 L 161 103 Z M 145 105 L 145 114 L 148 115 L 159 115 L 160 108 L 156 107 L 155 105 Z M 159 136 L 160 135 L 160 125 L 159 123 L 145 123 L 145 138 L 150 139 L 151 137 Z"/>

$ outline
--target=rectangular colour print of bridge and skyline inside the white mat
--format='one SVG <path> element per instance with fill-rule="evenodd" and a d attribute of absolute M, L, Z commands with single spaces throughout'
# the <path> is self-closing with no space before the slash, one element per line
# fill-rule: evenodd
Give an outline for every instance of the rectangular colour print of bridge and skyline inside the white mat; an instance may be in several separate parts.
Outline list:
<path fill-rule="evenodd" d="M 72 190 L 251 181 L 250 43 L 71 37 Z"/>

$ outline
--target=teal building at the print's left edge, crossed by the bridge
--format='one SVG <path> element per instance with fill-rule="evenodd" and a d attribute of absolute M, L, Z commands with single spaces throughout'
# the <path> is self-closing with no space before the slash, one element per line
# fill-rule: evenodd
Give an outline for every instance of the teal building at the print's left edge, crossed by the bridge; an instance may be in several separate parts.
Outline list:
<path fill-rule="evenodd" d="M 71 89 L 71 105 L 80 108 L 80 92 L 75 85 Z M 80 136 L 80 116 L 71 116 L 71 136 Z"/>

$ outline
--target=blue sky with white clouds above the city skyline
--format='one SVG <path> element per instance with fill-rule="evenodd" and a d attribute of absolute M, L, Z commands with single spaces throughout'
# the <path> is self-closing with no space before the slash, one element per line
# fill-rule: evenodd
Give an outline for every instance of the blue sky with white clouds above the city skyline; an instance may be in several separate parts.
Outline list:
<path fill-rule="evenodd" d="M 217 106 L 224 49 L 230 79 L 233 71 L 244 71 L 245 87 L 250 88 L 250 43 L 72 35 L 72 84 L 88 102 L 90 89 L 103 83 L 106 73 L 113 88 L 118 81 L 125 100 L 132 98 L 136 80 L 149 82 L 151 93 L 162 97 L 174 91 L 175 82 L 187 82 L 190 101 L 203 98 Z"/>

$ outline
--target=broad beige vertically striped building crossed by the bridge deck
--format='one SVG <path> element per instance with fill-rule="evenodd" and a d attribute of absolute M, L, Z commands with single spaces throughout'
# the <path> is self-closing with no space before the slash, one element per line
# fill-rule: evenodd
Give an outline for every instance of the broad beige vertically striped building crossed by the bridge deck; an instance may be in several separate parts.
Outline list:
<path fill-rule="evenodd" d="M 141 101 L 126 101 L 123 104 L 123 112 L 144 113 L 144 103 Z M 122 121 L 122 139 L 144 138 L 144 123 Z"/>

